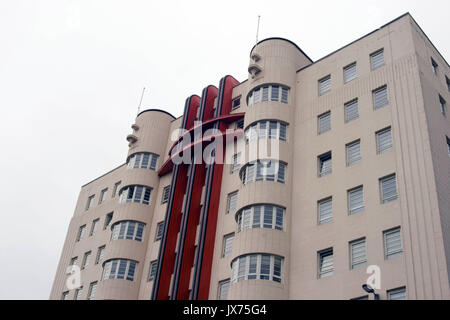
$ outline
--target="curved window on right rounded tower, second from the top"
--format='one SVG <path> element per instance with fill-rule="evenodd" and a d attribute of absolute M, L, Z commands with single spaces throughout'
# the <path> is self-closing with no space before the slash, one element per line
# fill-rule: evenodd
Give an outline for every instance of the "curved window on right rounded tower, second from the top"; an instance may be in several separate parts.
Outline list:
<path fill-rule="evenodd" d="M 245 129 L 245 142 L 257 139 L 278 139 L 286 141 L 287 124 L 276 120 L 263 120 L 253 123 Z"/>

